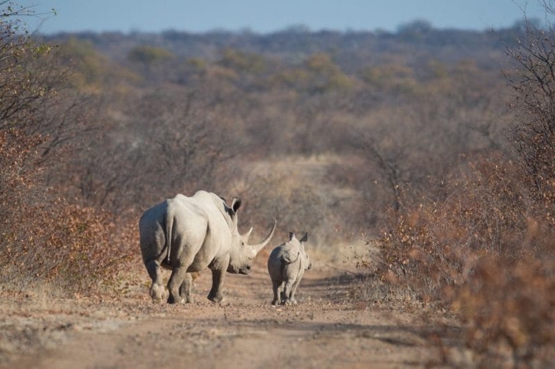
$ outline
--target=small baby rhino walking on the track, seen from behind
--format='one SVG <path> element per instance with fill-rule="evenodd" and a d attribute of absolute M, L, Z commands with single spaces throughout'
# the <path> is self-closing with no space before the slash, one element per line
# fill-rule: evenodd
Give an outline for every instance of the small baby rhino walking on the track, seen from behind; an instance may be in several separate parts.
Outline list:
<path fill-rule="evenodd" d="M 268 272 L 272 280 L 272 305 L 296 304 L 295 291 L 305 270 L 311 262 L 305 252 L 308 233 L 297 240 L 295 233 L 289 233 L 289 241 L 273 249 L 268 258 Z M 283 291 L 282 291 L 283 288 Z M 281 300 L 278 292 L 281 292 Z"/>

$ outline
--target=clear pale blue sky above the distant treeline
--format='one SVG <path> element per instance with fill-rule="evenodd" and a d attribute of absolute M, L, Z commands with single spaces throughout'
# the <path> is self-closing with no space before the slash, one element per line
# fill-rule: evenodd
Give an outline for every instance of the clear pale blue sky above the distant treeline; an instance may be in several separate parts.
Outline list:
<path fill-rule="evenodd" d="M 250 29 L 259 33 L 303 24 L 311 30 L 395 30 L 425 19 L 437 28 L 484 30 L 543 18 L 538 0 L 20 0 L 37 12 L 58 15 L 28 20 L 42 33 L 60 31 L 160 31 Z M 527 4 L 527 5 L 526 5 Z"/>

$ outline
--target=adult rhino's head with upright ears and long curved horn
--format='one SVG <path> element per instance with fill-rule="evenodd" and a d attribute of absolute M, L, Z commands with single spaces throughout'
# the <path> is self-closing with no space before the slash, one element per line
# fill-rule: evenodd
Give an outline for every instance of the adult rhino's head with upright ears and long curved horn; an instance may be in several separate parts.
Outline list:
<path fill-rule="evenodd" d="M 228 273 L 248 274 L 250 273 L 250 267 L 252 266 L 253 260 L 255 260 L 257 253 L 264 249 L 264 246 L 270 242 L 275 231 L 276 221 L 274 220 L 270 233 L 268 233 L 262 242 L 258 244 L 249 244 L 248 237 L 250 236 L 250 233 L 253 232 L 253 228 L 251 227 L 250 230 L 243 235 L 239 234 L 239 231 L 237 230 L 237 210 L 239 210 L 240 206 L 241 200 L 234 197 L 231 203 L 232 240 Z"/>

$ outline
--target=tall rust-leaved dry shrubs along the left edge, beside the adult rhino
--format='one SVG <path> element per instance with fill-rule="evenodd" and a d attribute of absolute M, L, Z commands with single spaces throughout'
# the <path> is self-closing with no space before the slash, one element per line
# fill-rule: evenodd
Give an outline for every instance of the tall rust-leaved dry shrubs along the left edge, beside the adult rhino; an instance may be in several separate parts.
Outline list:
<path fill-rule="evenodd" d="M 89 292 L 114 281 L 116 263 L 128 252 L 120 246 L 127 231 L 114 232 L 103 210 L 71 205 L 62 195 L 67 180 L 44 185 L 46 165 L 66 161 L 70 155 L 60 147 L 76 145 L 87 129 L 71 113 L 75 91 L 57 90 L 65 66 L 20 21 L 33 7 L 2 1 L 0 8 L 0 284 Z"/>

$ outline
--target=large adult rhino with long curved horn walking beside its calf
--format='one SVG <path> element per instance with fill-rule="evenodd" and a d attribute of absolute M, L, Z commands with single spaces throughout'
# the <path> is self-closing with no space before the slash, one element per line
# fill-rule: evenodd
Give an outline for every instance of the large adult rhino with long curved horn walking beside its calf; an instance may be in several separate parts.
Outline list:
<path fill-rule="evenodd" d="M 141 253 L 154 301 L 164 298 L 160 267 L 171 269 L 168 303 L 191 303 L 191 272 L 212 269 L 212 289 L 208 299 L 219 303 L 225 271 L 248 274 L 251 264 L 275 231 L 259 244 L 248 244 L 253 231 L 240 235 L 237 210 L 241 200 L 231 206 L 212 192 L 198 191 L 192 197 L 176 195 L 149 208 L 139 220 Z"/>

